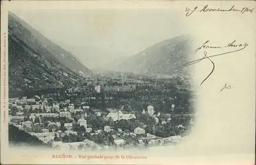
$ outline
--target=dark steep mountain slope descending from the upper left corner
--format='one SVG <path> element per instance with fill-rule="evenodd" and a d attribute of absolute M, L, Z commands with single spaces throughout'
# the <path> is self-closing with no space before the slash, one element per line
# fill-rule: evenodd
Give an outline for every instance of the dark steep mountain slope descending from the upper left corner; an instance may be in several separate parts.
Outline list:
<path fill-rule="evenodd" d="M 8 52 L 9 92 L 61 87 L 92 74 L 70 52 L 11 12 L 8 20 Z"/>

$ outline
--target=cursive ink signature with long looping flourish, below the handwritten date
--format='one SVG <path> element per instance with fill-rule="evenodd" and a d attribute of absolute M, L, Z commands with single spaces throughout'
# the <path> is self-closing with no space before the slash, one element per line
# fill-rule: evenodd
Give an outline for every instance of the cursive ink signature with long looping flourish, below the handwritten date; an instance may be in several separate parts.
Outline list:
<path fill-rule="evenodd" d="M 194 60 L 194 61 L 191 61 L 191 62 L 188 62 L 186 64 L 183 64 L 183 66 L 188 66 L 188 65 L 194 65 L 196 63 L 199 63 L 200 61 L 204 60 L 204 59 L 207 59 L 211 62 L 212 64 L 212 69 L 210 71 L 210 73 L 208 74 L 208 76 L 201 82 L 200 85 L 203 84 L 203 82 L 209 78 L 209 76 L 212 74 L 212 72 L 214 72 L 214 69 L 215 69 L 215 64 L 214 62 L 212 62 L 212 60 L 210 58 L 212 57 L 217 57 L 217 56 L 221 56 L 221 55 L 224 55 L 224 54 L 228 54 L 228 53 L 232 53 L 232 52 L 236 52 L 236 51 L 240 51 L 240 50 L 243 50 L 244 48 L 246 48 L 246 46 L 248 46 L 249 44 L 247 43 L 244 43 L 244 44 L 234 44 L 236 42 L 236 40 L 234 40 L 233 42 L 229 43 L 228 45 L 226 46 L 209 46 L 209 45 L 206 45 L 207 43 L 209 43 L 210 41 L 207 40 L 205 43 L 203 43 L 200 47 L 198 47 L 195 51 L 195 54 L 200 50 L 200 49 L 207 49 L 207 48 L 224 48 L 224 47 L 240 47 L 240 49 L 237 49 L 237 50 L 233 50 L 233 51 L 227 51 L 227 52 L 224 52 L 224 53 L 220 53 L 220 54 L 215 54 L 215 55 L 212 55 L 212 56 L 207 56 L 207 51 L 204 51 L 204 57 L 201 58 L 201 59 L 197 59 L 197 60 Z"/>

